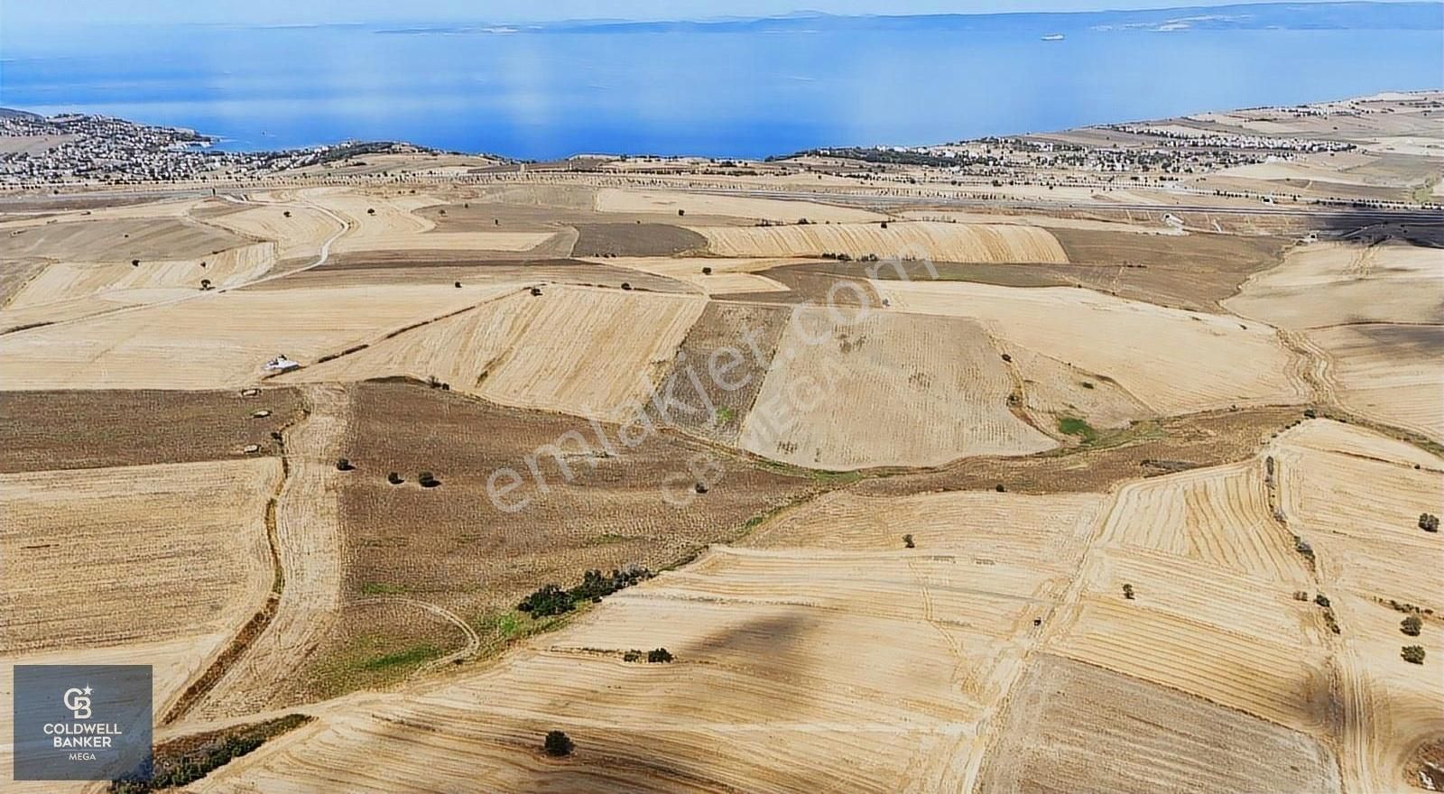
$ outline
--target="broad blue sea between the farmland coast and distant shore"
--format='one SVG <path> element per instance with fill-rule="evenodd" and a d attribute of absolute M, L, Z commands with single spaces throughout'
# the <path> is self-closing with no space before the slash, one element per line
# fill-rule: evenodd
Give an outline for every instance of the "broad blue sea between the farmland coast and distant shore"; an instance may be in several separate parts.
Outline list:
<path fill-rule="evenodd" d="M 121 27 L 0 32 L 0 105 L 193 127 L 235 149 L 409 140 L 552 159 L 757 157 L 1437 88 L 1440 30 L 989 25 Z M 963 17 L 966 19 L 966 17 Z M 1099 29 L 1099 27 L 1110 29 Z M 1064 33 L 1043 42 L 1041 33 Z"/>

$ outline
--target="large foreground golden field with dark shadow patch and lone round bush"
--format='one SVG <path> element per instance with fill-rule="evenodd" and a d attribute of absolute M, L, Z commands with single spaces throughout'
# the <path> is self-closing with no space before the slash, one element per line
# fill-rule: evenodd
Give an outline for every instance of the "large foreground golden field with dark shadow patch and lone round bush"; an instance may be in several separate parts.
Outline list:
<path fill-rule="evenodd" d="M 993 521 L 1014 507 L 1056 524 L 1002 541 L 1015 524 Z M 832 520 L 803 508 L 771 550 L 716 547 L 490 670 L 328 710 L 199 790 L 967 791 L 992 703 L 1096 508 L 921 497 L 892 527 L 926 538 L 915 550 L 861 536 L 833 550 L 820 530 Z M 999 540 L 996 560 L 978 559 L 973 531 Z M 1012 550 L 1041 563 L 1012 564 Z M 676 661 L 619 655 L 656 647 Z M 565 762 L 536 749 L 550 729 L 578 743 Z"/>

